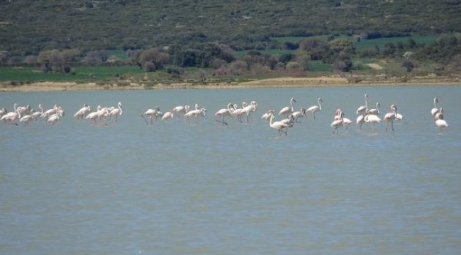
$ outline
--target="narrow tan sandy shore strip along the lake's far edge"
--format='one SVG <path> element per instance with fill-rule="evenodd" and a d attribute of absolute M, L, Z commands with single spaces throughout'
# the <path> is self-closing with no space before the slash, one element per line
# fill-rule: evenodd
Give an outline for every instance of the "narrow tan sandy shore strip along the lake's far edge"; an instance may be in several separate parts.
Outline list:
<path fill-rule="evenodd" d="M 147 89 L 243 89 L 255 87 L 309 87 L 309 86 L 415 86 L 415 85 L 461 85 L 461 78 L 451 77 L 413 77 L 406 81 L 400 79 L 366 79 L 350 82 L 345 77 L 282 77 L 261 79 L 241 83 L 176 83 L 152 84 Z M 36 82 L 13 85 L 11 82 L 0 83 L 0 91 L 82 91 L 82 90 L 140 90 L 146 89 L 144 84 L 129 82 L 117 84 L 77 84 L 74 82 Z"/>

